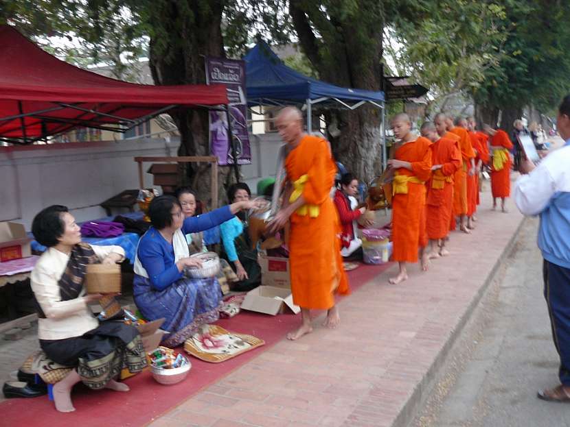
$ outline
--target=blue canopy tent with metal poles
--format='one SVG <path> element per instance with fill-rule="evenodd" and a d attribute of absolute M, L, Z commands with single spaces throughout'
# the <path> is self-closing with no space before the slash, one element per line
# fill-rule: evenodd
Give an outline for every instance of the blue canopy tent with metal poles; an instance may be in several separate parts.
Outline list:
<path fill-rule="evenodd" d="M 382 91 L 343 88 L 320 82 L 286 66 L 266 42 L 260 41 L 246 56 L 246 86 L 249 106 L 306 106 L 307 129 L 312 129 L 312 106 L 354 110 L 372 105 L 382 110 L 385 118 L 385 97 Z M 384 134 L 384 132 L 382 132 Z M 386 145 L 383 137 L 383 164 L 386 164 Z"/>

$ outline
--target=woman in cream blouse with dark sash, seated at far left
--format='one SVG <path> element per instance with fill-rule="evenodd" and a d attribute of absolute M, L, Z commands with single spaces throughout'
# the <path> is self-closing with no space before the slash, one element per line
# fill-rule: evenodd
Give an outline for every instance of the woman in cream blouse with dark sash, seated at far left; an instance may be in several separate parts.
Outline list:
<path fill-rule="evenodd" d="M 102 295 L 85 295 L 83 287 L 87 264 L 118 263 L 124 250 L 81 243 L 80 228 L 65 206 L 39 212 L 32 232 L 47 247 L 31 276 L 40 347 L 52 361 L 76 367 L 54 386 L 57 410 L 75 411 L 71 389 L 80 381 L 90 389 L 128 391 L 115 379 L 124 367 L 134 373 L 146 366 L 139 332 L 122 319 L 100 323 L 87 304 Z"/>

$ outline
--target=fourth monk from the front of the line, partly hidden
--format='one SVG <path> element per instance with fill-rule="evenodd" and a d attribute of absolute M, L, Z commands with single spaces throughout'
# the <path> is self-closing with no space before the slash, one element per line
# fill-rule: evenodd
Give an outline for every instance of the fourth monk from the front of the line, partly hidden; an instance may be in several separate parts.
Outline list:
<path fill-rule="evenodd" d="M 459 150 L 463 164 L 459 171 L 455 173 L 455 188 L 453 192 L 453 214 L 459 217 L 459 230 L 465 233 L 471 231 L 467 228 L 467 176 L 475 173 L 475 152 L 471 146 L 471 139 L 467 130 L 457 125 L 458 121 L 453 125 L 451 117 L 448 117 L 447 130 L 452 134 L 459 136 Z M 455 223 L 453 223 L 455 229 Z"/>

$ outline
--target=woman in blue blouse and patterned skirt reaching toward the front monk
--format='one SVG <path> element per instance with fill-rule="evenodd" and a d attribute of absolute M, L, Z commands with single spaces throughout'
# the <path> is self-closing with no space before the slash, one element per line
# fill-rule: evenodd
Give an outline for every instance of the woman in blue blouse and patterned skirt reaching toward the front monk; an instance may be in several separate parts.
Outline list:
<path fill-rule="evenodd" d="M 240 210 L 257 207 L 256 202 L 243 201 L 184 219 L 176 197 L 164 195 L 150 202 L 152 227 L 137 248 L 133 294 L 146 319 L 166 319 L 164 345 L 179 345 L 199 326 L 218 319 L 221 293 L 216 278 L 194 279 L 183 273 L 187 267 L 199 267 L 199 262 L 190 258 L 185 234 L 213 228 Z"/>

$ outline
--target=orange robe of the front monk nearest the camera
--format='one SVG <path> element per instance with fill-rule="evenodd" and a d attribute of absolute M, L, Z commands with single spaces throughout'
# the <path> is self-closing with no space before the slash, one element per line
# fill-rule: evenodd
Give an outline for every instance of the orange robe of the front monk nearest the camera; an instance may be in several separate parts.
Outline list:
<path fill-rule="evenodd" d="M 339 214 L 329 196 L 337 171 L 330 145 L 317 136 L 304 136 L 288 154 L 285 169 L 292 184 L 306 178 L 299 188 L 306 205 L 290 217 L 293 302 L 302 308 L 328 310 L 334 306 L 334 291 L 350 293 L 341 257 Z"/>

